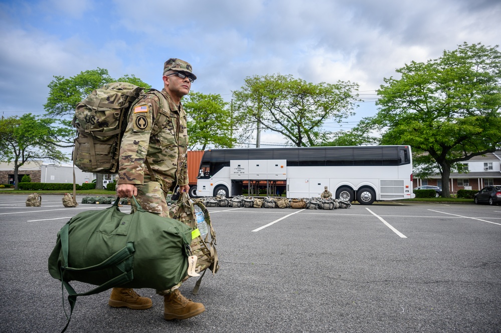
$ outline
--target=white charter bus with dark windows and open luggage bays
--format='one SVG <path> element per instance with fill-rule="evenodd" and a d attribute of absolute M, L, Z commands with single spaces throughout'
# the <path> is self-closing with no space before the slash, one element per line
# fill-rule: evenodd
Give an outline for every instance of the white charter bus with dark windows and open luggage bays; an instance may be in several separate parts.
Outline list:
<path fill-rule="evenodd" d="M 197 196 L 242 195 L 272 182 L 287 198 L 319 197 L 324 186 L 365 205 L 415 197 L 410 146 L 209 149 L 197 178 Z"/>

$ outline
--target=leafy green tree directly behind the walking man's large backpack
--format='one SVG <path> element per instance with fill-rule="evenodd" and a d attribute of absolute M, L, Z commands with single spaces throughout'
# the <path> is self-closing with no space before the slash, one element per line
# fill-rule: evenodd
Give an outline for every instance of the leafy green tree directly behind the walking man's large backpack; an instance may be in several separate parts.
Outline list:
<path fill-rule="evenodd" d="M 134 75 L 124 75 L 115 80 L 108 74 L 108 70 L 97 68 L 80 72 L 70 78 L 54 76 L 54 80 L 49 83 L 49 97 L 44 104 L 46 115 L 57 117 L 63 126 L 70 127 L 71 119 L 75 113 L 75 108 L 93 90 L 111 82 L 128 82 L 143 88 L 151 88 L 150 85 L 142 82 Z M 70 119 L 65 119 L 65 117 Z M 103 175 L 97 175 L 97 189 L 103 189 Z"/>

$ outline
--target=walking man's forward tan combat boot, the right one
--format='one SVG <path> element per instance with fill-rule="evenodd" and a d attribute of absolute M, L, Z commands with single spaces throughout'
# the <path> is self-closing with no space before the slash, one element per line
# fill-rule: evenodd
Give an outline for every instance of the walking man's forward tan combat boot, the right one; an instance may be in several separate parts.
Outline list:
<path fill-rule="evenodd" d="M 188 319 L 204 311 L 204 304 L 187 299 L 178 289 L 163 296 L 163 318 L 165 320 Z"/>

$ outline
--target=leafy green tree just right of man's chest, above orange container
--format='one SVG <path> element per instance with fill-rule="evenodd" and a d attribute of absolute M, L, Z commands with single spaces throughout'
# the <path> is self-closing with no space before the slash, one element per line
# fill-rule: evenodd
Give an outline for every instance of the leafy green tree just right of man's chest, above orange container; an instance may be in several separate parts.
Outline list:
<path fill-rule="evenodd" d="M 231 148 L 236 139 L 232 137 L 232 117 L 229 103 L 221 96 L 191 92 L 185 97 L 183 106 L 188 114 L 188 134 L 190 149 L 207 145 L 214 148 Z"/>

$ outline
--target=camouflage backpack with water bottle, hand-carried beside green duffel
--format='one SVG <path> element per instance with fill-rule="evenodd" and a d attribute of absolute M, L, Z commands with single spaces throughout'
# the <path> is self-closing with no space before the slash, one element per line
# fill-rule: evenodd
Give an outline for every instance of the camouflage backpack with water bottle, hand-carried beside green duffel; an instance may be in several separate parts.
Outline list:
<path fill-rule="evenodd" d="M 202 212 L 204 213 L 205 222 L 209 227 L 209 232 L 205 237 L 200 235 L 200 232 L 196 233 L 197 226 L 197 218 L 195 213 L 195 205 L 198 206 Z M 219 262 L 218 262 L 218 252 L 216 250 L 216 232 L 214 231 L 214 227 L 211 222 L 211 216 L 209 215 L 209 210 L 205 207 L 205 205 L 200 201 L 193 201 L 189 198 L 188 193 L 183 192 L 175 204 L 171 205 L 169 209 L 171 212 L 171 216 L 175 219 L 189 225 L 194 229 L 194 236 L 191 242 L 191 249 L 193 255 L 197 256 L 197 264 L 195 271 L 197 273 L 202 273 L 202 276 L 198 279 L 195 287 L 192 291 L 193 294 L 197 294 L 200 288 L 200 283 L 202 281 L 202 277 L 204 276 L 207 269 L 212 271 L 212 274 L 216 274 L 219 270 Z M 188 275 L 185 279 L 188 278 Z"/>

